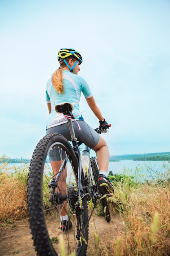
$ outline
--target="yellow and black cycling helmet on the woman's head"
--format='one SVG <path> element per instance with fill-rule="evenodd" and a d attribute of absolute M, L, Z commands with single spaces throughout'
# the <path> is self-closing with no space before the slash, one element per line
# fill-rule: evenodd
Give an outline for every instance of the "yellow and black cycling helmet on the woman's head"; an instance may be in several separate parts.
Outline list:
<path fill-rule="evenodd" d="M 68 48 L 62 48 L 60 49 L 60 51 L 58 52 L 58 61 L 64 60 L 65 58 L 71 56 L 72 58 L 75 58 L 77 61 L 79 61 L 79 65 L 82 64 L 83 59 L 81 54 L 79 54 L 79 52 L 77 52 L 74 49 L 68 49 Z"/>

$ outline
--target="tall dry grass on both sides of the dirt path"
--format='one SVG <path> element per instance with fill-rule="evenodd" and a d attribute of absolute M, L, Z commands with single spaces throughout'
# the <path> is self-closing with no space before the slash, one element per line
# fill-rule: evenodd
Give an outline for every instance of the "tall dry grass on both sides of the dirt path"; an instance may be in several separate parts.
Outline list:
<path fill-rule="evenodd" d="M 1 220 L 26 216 L 28 171 L 29 166 L 23 164 L 20 168 L 13 167 L 10 174 L 8 164 L 0 164 Z M 150 179 L 149 171 L 148 168 L 144 176 L 143 167 L 137 166 L 135 170 L 124 169 L 122 174 L 110 176 L 115 193 L 108 203 L 114 209 L 113 219 L 115 210 L 119 212 L 124 231 L 115 240 L 107 240 L 107 244 L 95 233 L 95 247 L 89 241 L 91 255 L 170 255 L 170 162 Z M 49 193 L 45 183 L 44 193 Z"/>

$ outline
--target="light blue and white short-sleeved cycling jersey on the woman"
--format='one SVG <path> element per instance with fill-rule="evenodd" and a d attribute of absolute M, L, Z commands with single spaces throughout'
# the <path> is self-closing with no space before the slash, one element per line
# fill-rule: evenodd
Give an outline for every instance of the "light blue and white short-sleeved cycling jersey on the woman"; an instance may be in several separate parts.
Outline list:
<path fill-rule="evenodd" d="M 79 111 L 81 92 L 84 94 L 86 99 L 92 97 L 88 84 L 81 76 L 77 76 L 68 70 L 64 70 L 62 74 L 64 83 L 64 92 L 62 94 L 59 94 L 54 89 L 51 78 L 46 83 L 46 101 L 47 103 L 51 103 L 51 113 L 46 121 L 46 129 L 67 122 L 67 119 L 63 116 L 63 114 L 58 114 L 55 111 L 55 105 L 70 102 L 74 107 L 73 115 L 75 118 L 78 120 L 83 120 L 83 117 Z"/>

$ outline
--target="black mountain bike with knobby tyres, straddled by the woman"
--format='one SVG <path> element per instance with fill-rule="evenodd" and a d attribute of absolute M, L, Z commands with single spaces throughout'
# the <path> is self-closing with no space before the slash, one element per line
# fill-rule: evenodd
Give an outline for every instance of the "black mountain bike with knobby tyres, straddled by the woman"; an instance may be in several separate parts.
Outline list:
<path fill-rule="evenodd" d="M 107 222 L 110 222 L 110 211 L 106 195 L 103 195 L 103 190 L 98 185 L 99 171 L 95 157 L 90 159 L 90 148 L 87 146 L 82 151 L 82 155 L 80 153 L 79 146 L 82 143 L 77 142 L 75 137 L 72 106 L 70 103 L 65 103 L 55 108 L 67 118 L 73 146 L 64 136 L 50 133 L 40 140 L 34 150 L 27 189 L 31 234 L 39 256 L 60 255 L 58 236 L 61 233 L 68 255 L 76 252 L 77 256 L 85 256 L 88 245 L 88 224 L 98 200 L 102 204 Z M 99 128 L 97 132 L 101 132 Z M 60 168 L 54 175 L 51 171 L 49 154 L 55 156 L 56 152 L 59 153 L 61 161 L 57 162 L 60 163 Z M 83 159 L 85 153 L 87 157 Z M 64 179 L 66 187 L 64 187 Z M 89 217 L 87 201 L 93 204 Z M 73 223 L 68 231 L 61 231 L 59 227 L 62 210 L 67 211 Z"/>

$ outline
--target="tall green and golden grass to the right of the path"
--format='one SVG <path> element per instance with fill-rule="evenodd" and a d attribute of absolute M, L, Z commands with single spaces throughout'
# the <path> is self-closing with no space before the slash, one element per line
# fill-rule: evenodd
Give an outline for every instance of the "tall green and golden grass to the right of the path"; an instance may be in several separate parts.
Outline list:
<path fill-rule="evenodd" d="M 115 185 L 114 203 L 124 220 L 119 255 L 170 255 L 170 162 L 159 179 L 148 182 L 138 167 L 124 170 Z M 161 179 L 160 179 L 161 177 Z M 117 243 L 118 246 L 118 243 Z M 113 254 L 114 255 L 114 254 Z"/>

